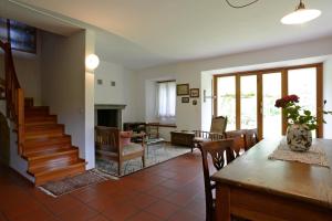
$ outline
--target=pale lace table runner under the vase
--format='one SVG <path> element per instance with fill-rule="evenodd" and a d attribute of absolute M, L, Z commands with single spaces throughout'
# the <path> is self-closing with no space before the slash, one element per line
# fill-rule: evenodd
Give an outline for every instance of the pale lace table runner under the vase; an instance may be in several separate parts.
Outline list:
<path fill-rule="evenodd" d="M 308 151 L 301 152 L 291 150 L 287 145 L 286 138 L 282 138 L 278 148 L 269 156 L 269 159 L 299 161 L 330 168 L 325 151 L 319 143 L 312 144 Z"/>

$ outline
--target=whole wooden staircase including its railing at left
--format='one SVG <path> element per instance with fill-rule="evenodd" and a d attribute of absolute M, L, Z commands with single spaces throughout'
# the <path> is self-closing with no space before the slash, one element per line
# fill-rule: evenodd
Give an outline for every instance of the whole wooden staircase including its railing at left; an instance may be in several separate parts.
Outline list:
<path fill-rule="evenodd" d="M 49 107 L 33 106 L 33 98 L 25 98 L 18 81 L 11 48 L 0 41 L 4 51 L 6 80 L 0 80 L 0 99 L 6 99 L 7 117 L 18 134 L 18 155 L 28 161 L 28 173 L 34 185 L 74 176 L 85 171 L 85 161 L 79 157 L 79 148 L 71 136 L 64 134 L 64 125 Z"/>

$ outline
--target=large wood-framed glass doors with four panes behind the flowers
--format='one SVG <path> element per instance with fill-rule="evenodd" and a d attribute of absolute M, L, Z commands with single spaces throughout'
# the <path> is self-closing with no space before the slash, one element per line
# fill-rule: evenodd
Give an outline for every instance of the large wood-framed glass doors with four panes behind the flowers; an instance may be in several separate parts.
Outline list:
<path fill-rule="evenodd" d="M 322 64 L 215 75 L 215 115 L 227 116 L 227 130 L 258 128 L 259 137 L 286 133 L 287 119 L 274 107 L 277 98 L 300 96 L 300 105 L 322 119 Z M 322 124 L 315 130 L 322 137 Z"/>

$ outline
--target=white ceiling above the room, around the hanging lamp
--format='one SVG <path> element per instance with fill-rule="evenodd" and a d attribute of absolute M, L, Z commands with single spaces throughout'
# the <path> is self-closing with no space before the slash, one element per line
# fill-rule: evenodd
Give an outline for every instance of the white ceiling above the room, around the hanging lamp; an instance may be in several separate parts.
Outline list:
<path fill-rule="evenodd" d="M 15 1 L 115 34 L 122 46 L 107 43 L 107 38 L 104 38 L 101 39 L 104 44 L 101 44 L 100 51 L 105 56 L 118 56 L 115 60 L 131 69 L 241 53 L 332 35 L 331 0 L 304 0 L 308 8 L 320 9 L 322 15 L 303 25 L 280 23 L 284 14 L 294 10 L 299 0 L 260 0 L 245 9 L 232 9 L 225 0 Z M 250 0 L 231 1 L 246 3 Z"/>

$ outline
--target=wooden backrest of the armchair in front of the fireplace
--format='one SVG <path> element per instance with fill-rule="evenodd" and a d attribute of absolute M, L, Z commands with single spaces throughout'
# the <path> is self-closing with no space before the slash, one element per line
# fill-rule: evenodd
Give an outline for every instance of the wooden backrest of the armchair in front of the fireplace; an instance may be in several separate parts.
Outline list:
<path fill-rule="evenodd" d="M 116 127 L 95 127 L 95 147 L 117 152 L 120 148 L 120 130 Z"/>

